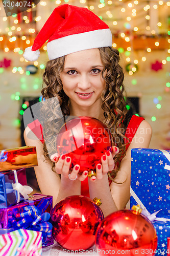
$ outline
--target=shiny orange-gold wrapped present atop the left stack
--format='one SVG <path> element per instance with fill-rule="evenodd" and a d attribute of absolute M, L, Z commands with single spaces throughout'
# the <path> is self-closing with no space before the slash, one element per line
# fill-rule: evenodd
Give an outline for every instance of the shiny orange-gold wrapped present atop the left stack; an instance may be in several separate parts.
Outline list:
<path fill-rule="evenodd" d="M 35 146 L 22 146 L 0 151 L 0 172 L 37 165 Z"/>

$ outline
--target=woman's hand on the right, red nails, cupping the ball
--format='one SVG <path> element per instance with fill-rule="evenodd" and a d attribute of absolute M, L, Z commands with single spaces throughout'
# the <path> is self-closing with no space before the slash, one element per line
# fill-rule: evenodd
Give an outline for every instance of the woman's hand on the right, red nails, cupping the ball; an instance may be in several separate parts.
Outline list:
<path fill-rule="evenodd" d="M 96 165 L 96 176 L 92 176 L 89 179 L 95 181 L 96 179 L 101 180 L 110 170 L 114 168 L 114 156 L 119 152 L 118 147 L 112 147 L 112 153 L 107 151 L 105 155 L 102 156 L 102 164 Z"/>

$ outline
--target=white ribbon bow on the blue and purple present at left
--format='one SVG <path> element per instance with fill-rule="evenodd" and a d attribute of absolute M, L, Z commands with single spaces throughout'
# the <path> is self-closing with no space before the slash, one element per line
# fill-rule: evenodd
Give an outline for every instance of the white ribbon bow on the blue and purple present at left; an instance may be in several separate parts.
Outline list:
<path fill-rule="evenodd" d="M 16 170 L 13 170 L 14 172 L 14 177 L 15 177 L 15 183 L 12 183 L 12 188 L 15 189 L 17 191 L 17 203 L 19 203 L 20 201 L 20 195 L 19 193 L 24 197 L 24 199 L 28 199 L 29 198 L 29 194 L 33 191 L 32 187 L 27 186 L 27 185 L 21 185 L 18 182 L 18 177 L 17 177 L 17 173 Z"/>

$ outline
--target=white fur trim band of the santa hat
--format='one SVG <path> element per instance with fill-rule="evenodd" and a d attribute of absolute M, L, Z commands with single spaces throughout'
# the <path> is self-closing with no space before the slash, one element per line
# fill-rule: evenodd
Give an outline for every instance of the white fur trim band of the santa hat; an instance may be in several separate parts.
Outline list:
<path fill-rule="evenodd" d="M 108 46 L 112 46 L 110 29 L 99 29 L 52 40 L 47 43 L 47 53 L 51 60 L 82 50 Z"/>

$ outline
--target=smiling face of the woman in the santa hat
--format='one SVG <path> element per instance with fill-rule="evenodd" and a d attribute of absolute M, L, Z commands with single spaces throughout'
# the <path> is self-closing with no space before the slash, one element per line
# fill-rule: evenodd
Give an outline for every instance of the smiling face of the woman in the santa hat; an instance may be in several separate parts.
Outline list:
<path fill-rule="evenodd" d="M 60 73 L 63 90 L 72 106 L 101 106 L 101 94 L 106 87 L 99 49 L 83 50 L 65 56 Z M 106 73 L 106 72 L 105 72 Z"/>

